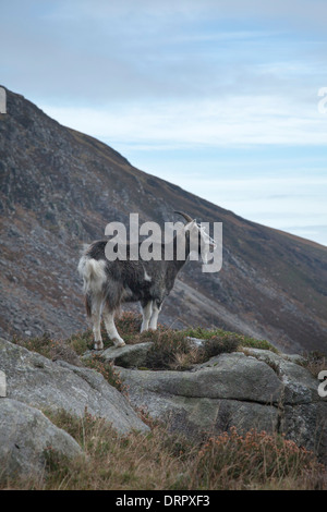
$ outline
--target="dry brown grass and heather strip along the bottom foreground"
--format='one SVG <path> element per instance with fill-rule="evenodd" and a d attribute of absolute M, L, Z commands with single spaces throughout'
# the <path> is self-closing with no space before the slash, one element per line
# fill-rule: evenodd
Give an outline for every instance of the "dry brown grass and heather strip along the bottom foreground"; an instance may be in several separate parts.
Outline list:
<path fill-rule="evenodd" d="M 150 434 L 119 436 L 104 419 L 48 413 L 82 446 L 73 461 L 47 451 L 43 477 L 2 481 L 2 489 L 35 490 L 241 490 L 327 489 L 313 453 L 280 435 L 232 428 L 192 444 L 150 423 Z"/>

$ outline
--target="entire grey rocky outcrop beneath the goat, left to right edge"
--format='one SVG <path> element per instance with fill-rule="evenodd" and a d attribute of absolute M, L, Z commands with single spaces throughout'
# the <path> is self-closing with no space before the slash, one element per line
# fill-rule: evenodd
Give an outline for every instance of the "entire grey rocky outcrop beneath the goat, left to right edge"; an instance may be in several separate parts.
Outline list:
<path fill-rule="evenodd" d="M 104 361 L 116 364 L 126 400 L 93 369 L 52 362 L 0 339 L 0 476 L 43 473 L 49 450 L 68 458 L 83 455 L 45 410 L 83 416 L 87 409 L 122 434 L 149 430 L 135 407 L 191 439 L 232 426 L 243 432 L 283 432 L 327 463 L 327 400 L 319 397 L 319 381 L 300 356 L 243 349 L 187 371 L 143 370 L 152 346 L 148 342 L 101 352 Z"/>

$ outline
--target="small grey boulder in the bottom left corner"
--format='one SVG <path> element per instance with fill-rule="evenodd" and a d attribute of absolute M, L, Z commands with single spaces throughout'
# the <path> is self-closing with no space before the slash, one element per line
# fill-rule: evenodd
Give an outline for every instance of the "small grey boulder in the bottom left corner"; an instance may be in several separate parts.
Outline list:
<path fill-rule="evenodd" d="M 43 474 L 47 450 L 69 459 L 83 453 L 80 444 L 40 411 L 16 400 L 1 399 L 1 477 Z"/>

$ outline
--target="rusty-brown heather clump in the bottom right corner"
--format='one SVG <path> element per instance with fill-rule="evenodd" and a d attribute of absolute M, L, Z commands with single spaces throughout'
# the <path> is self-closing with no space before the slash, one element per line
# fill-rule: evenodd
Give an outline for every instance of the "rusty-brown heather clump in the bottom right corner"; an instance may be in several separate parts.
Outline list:
<path fill-rule="evenodd" d="M 198 452 L 192 486 L 203 489 L 246 489 L 305 481 L 315 475 L 323 486 L 324 466 L 315 455 L 283 435 L 235 427 L 209 438 Z M 322 479 L 319 479 L 322 475 Z M 283 484 L 282 484 L 283 483 Z M 307 484 L 308 485 L 308 484 Z"/>

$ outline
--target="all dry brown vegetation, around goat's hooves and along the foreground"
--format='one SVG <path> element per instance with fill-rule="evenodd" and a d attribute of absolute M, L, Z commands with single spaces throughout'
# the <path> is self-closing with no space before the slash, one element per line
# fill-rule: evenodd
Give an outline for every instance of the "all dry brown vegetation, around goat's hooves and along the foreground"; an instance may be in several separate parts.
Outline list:
<path fill-rule="evenodd" d="M 275 351 L 265 340 L 254 340 L 222 330 L 189 329 L 174 331 L 160 326 L 158 331 L 140 334 L 140 316 L 125 313 L 118 328 L 128 343 L 153 341 L 147 365 L 153 369 L 187 369 L 221 352 L 241 346 Z M 102 332 L 105 348 L 110 346 Z M 190 337 L 206 339 L 204 348 L 190 344 Z M 28 350 L 50 358 L 80 358 L 92 348 L 92 331 L 53 341 L 44 336 L 27 341 L 13 340 Z M 307 359 L 316 369 L 315 358 Z M 100 371 L 120 391 L 125 392 L 114 367 L 94 355 L 88 366 Z M 152 420 L 144 411 L 142 419 L 149 434 L 118 435 L 110 424 L 90 416 L 76 418 L 65 412 L 46 412 L 50 419 L 66 430 L 84 450 L 85 456 L 68 461 L 47 451 L 47 470 L 43 477 L 28 476 L 2 481 L 9 489 L 327 489 L 326 471 L 312 452 L 295 446 L 278 434 L 252 430 L 238 432 L 233 427 L 220 436 L 191 442 L 169 430 L 169 426 Z"/>

